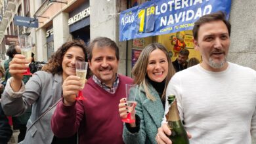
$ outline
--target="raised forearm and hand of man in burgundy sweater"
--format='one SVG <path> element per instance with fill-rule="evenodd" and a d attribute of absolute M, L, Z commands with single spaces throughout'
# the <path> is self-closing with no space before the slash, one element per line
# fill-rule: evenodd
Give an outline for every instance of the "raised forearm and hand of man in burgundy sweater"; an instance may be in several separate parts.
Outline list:
<path fill-rule="evenodd" d="M 62 85 L 63 99 L 54 111 L 51 128 L 56 137 L 70 137 L 74 135 L 84 115 L 83 101 L 76 101 L 75 96 L 81 90 L 81 83 L 77 76 L 66 78 Z"/>

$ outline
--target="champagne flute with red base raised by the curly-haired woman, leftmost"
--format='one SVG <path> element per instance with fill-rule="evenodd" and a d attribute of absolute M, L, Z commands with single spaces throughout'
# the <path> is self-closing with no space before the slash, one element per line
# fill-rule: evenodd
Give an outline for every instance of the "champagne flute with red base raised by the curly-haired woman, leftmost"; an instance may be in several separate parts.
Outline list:
<path fill-rule="evenodd" d="M 21 54 L 26 57 L 26 59 L 31 62 L 32 60 L 32 37 L 28 35 L 18 35 L 18 41 L 20 43 Z M 29 65 L 30 63 L 28 63 Z M 30 73 L 30 67 L 27 68 L 27 71 L 23 75 L 32 75 Z"/>

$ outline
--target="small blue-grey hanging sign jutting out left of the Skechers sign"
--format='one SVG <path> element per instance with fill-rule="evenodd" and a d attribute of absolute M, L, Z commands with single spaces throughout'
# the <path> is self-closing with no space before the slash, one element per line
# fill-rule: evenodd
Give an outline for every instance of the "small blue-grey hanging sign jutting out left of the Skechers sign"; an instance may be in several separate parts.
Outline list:
<path fill-rule="evenodd" d="M 24 16 L 14 16 L 14 25 L 26 27 L 38 27 L 38 19 Z"/>

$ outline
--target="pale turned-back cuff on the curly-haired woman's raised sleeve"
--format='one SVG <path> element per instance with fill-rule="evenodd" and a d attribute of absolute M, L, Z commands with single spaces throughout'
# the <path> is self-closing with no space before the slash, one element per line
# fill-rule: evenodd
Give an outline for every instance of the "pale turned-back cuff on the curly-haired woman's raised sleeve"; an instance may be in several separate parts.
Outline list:
<path fill-rule="evenodd" d="M 22 81 L 22 86 L 20 88 L 20 90 L 18 92 L 14 92 L 12 90 L 12 87 L 11 87 L 11 82 L 12 82 L 12 77 L 10 77 L 8 80 L 7 80 L 7 84 L 5 86 L 5 91 L 7 92 L 7 94 L 9 94 L 9 96 L 11 98 L 20 98 L 22 97 L 22 94 L 25 92 L 26 88 L 25 88 L 25 84 L 24 82 Z"/>

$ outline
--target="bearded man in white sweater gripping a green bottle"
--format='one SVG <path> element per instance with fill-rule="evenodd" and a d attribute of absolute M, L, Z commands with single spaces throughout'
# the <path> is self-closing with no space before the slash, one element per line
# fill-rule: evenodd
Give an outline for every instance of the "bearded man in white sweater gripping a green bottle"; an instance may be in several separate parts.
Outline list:
<path fill-rule="evenodd" d="M 223 12 L 195 22 L 194 46 L 203 61 L 176 73 L 167 86 L 167 96 L 177 96 L 190 144 L 249 144 L 256 139 L 256 71 L 226 61 L 230 29 Z M 163 120 L 158 143 L 171 143 L 165 134 L 171 132 Z"/>

